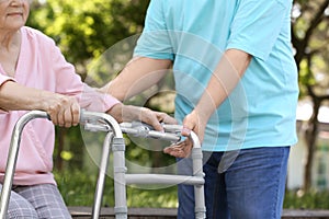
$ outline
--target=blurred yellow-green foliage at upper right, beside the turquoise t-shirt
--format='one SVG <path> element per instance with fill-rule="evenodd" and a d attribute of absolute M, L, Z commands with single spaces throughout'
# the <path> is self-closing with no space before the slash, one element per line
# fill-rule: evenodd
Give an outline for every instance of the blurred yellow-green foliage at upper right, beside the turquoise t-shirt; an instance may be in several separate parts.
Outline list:
<path fill-rule="evenodd" d="M 306 87 L 309 85 L 316 87 L 318 95 L 327 94 L 329 87 L 328 5 L 325 0 L 296 0 L 294 5 L 292 34 L 296 49 L 295 59 L 299 67 L 300 96 L 308 95 Z"/>

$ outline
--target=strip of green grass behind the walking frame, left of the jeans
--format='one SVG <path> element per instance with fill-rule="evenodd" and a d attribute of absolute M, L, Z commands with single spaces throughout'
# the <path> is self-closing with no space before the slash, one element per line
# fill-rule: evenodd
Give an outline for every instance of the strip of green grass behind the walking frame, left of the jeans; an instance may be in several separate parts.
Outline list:
<path fill-rule="evenodd" d="M 68 206 L 92 206 L 97 177 L 97 173 L 88 174 L 81 169 L 55 171 L 58 188 Z M 128 207 L 177 207 L 177 187 L 143 189 L 127 186 L 127 205 Z M 113 180 L 109 176 L 105 181 L 103 206 L 114 207 Z"/>

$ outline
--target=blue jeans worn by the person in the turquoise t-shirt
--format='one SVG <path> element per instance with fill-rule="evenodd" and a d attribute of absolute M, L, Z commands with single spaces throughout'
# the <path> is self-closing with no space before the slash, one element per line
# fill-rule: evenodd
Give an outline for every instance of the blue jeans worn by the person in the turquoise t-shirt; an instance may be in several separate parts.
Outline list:
<path fill-rule="evenodd" d="M 208 219 L 280 219 L 290 147 L 204 152 Z M 179 163 L 189 174 L 191 160 Z M 191 174 L 191 173 L 190 173 Z M 194 218 L 193 186 L 179 185 L 179 219 Z"/>

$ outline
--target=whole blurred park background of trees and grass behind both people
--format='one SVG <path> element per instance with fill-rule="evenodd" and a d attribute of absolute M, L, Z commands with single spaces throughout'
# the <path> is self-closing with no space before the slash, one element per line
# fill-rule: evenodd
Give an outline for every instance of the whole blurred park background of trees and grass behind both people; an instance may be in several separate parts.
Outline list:
<path fill-rule="evenodd" d="M 129 60 L 149 0 L 34 0 L 27 25 L 54 38 L 82 80 L 99 87 Z M 290 159 L 284 208 L 329 209 L 329 0 L 294 1 L 292 45 L 299 73 L 299 141 Z M 110 61 L 104 64 L 104 57 Z M 164 92 L 140 94 L 128 103 L 172 114 L 171 79 L 169 74 L 154 88 Z M 93 201 L 104 136 L 92 135 L 80 127 L 56 127 L 55 176 L 69 206 L 91 206 Z M 134 163 L 154 170 L 174 163 L 161 150 L 139 147 L 152 143 L 161 148 L 156 141 L 136 145 L 128 137 L 126 140 L 126 158 Z M 128 206 L 177 207 L 175 192 L 175 186 L 128 186 Z M 113 180 L 109 174 L 103 205 L 113 203 Z"/>

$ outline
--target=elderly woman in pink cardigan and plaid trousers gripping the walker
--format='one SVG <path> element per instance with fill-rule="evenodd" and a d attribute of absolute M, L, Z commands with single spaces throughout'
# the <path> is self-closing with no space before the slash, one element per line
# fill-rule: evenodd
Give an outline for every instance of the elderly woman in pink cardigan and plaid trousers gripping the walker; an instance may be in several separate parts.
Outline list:
<path fill-rule="evenodd" d="M 35 119 L 22 134 L 8 217 L 70 218 L 52 174 L 53 124 L 77 125 L 80 108 L 106 112 L 118 122 L 139 119 L 158 130 L 159 122 L 174 120 L 163 113 L 123 105 L 82 83 L 54 41 L 24 26 L 29 11 L 30 0 L 0 0 L 0 182 L 16 120 L 26 111 L 47 112 L 52 122 Z"/>

